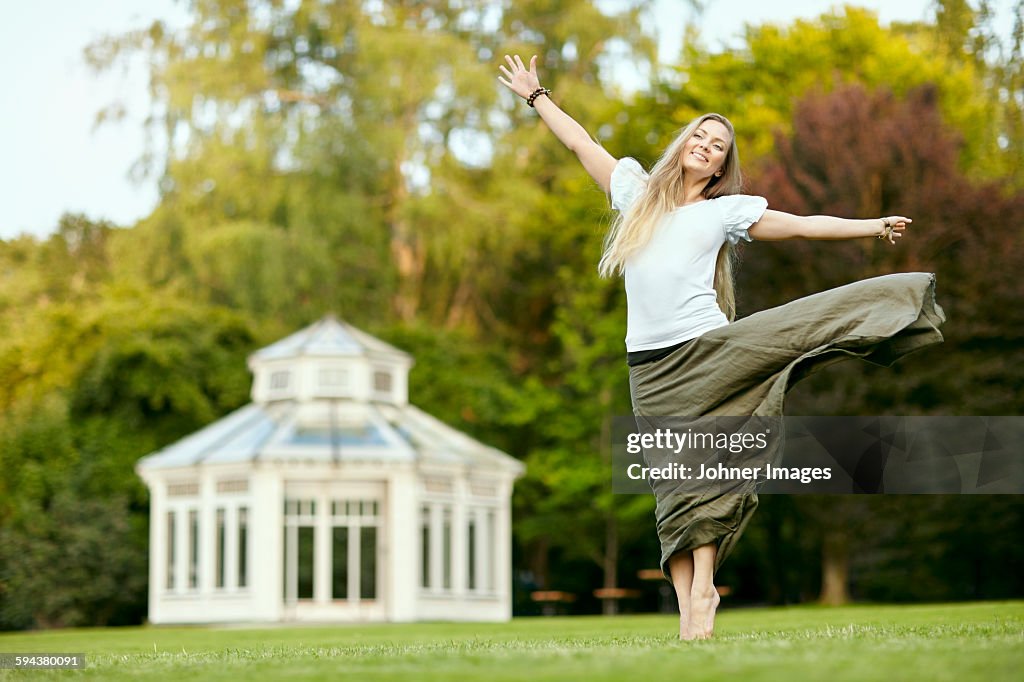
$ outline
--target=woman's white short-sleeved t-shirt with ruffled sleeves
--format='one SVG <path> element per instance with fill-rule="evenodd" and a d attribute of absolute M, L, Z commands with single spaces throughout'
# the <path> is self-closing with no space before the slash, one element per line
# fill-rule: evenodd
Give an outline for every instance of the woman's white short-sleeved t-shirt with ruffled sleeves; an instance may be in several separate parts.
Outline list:
<path fill-rule="evenodd" d="M 611 172 L 611 207 L 626 211 L 642 194 L 647 173 L 635 159 Z M 729 240 L 751 241 L 763 197 L 731 195 L 680 207 L 654 229 L 650 242 L 626 261 L 626 350 L 653 350 L 728 325 L 715 293 L 715 261 Z"/>

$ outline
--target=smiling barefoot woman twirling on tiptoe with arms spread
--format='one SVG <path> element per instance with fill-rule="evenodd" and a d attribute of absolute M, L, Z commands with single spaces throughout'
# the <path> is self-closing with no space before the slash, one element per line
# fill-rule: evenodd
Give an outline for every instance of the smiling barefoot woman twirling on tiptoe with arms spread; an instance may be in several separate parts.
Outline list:
<path fill-rule="evenodd" d="M 934 275 L 865 280 L 738 322 L 730 246 L 739 240 L 847 240 L 895 244 L 911 220 L 795 216 L 740 193 L 732 125 L 707 114 L 669 144 L 650 173 L 615 159 L 561 111 L 527 69 L 505 56 L 503 85 L 527 100 L 618 211 L 599 264 L 622 273 L 627 363 L 638 423 L 650 416 L 780 416 L 788 387 L 848 356 L 890 365 L 942 340 Z M 662 567 L 676 589 L 680 638 L 705 639 L 719 603 L 714 573 L 735 545 L 757 496 L 709 497 L 654 484 Z"/>

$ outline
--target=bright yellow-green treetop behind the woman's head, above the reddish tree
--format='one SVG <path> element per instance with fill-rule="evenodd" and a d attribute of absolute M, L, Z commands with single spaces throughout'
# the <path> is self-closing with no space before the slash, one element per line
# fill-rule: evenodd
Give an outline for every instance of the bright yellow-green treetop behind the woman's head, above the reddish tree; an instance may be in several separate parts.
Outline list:
<path fill-rule="evenodd" d="M 650 92 L 636 98 L 609 131 L 609 144 L 653 161 L 685 123 L 719 112 L 735 125 L 751 170 L 774 156 L 777 131 L 793 132 L 794 106 L 805 96 L 860 84 L 901 97 L 931 84 L 943 120 L 971 135 L 958 167 L 978 178 L 1010 171 L 998 131 L 987 124 L 997 92 L 984 78 L 984 62 L 944 52 L 932 27 L 885 28 L 871 11 L 846 6 L 785 26 L 748 25 L 742 44 L 720 52 L 701 47 L 698 36 L 684 44 L 676 68 L 658 72 Z"/>

